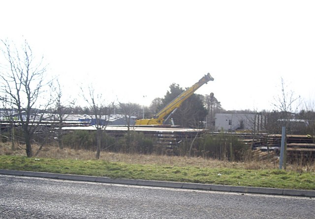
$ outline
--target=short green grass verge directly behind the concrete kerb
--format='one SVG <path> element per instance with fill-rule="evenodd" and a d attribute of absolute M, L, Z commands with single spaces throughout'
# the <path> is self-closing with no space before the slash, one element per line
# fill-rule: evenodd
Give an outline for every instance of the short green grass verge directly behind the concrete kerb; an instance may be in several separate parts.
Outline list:
<path fill-rule="evenodd" d="M 315 190 L 315 173 L 0 155 L 0 169 L 186 183 Z"/>

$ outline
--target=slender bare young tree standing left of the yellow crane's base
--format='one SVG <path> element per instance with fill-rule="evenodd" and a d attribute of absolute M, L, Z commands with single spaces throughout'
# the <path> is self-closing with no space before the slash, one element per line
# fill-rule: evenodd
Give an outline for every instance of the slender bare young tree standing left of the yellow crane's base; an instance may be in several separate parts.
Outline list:
<path fill-rule="evenodd" d="M 88 86 L 89 95 L 86 96 L 84 89 L 81 87 L 82 96 L 89 105 L 89 110 L 92 114 L 88 115 L 93 121 L 96 129 L 96 154 L 95 158 L 99 159 L 101 150 L 101 139 L 103 132 L 106 131 L 106 126 L 109 124 L 111 108 L 106 105 L 102 94 L 96 94 L 92 85 Z"/>

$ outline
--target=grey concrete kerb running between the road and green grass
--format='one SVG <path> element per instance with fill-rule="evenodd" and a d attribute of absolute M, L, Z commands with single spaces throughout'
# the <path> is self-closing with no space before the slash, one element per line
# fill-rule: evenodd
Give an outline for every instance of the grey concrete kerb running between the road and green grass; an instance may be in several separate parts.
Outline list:
<path fill-rule="evenodd" d="M 59 180 L 95 182 L 95 183 L 113 183 L 113 184 L 127 184 L 127 185 L 140 185 L 140 186 L 153 186 L 153 187 L 197 189 L 197 190 L 208 190 L 208 191 L 225 191 L 225 192 L 256 193 L 256 194 L 268 194 L 268 195 L 315 197 L 315 190 L 213 185 L 213 184 L 201 184 L 201 183 L 176 183 L 176 182 L 130 180 L 130 179 L 110 179 L 107 177 L 92 177 L 92 176 L 81 176 L 81 175 L 70 175 L 70 174 L 54 174 L 54 173 L 41 173 L 41 172 L 32 172 L 32 171 L 2 170 L 2 169 L 0 169 L 0 174 L 50 178 L 50 179 L 59 179 Z"/>

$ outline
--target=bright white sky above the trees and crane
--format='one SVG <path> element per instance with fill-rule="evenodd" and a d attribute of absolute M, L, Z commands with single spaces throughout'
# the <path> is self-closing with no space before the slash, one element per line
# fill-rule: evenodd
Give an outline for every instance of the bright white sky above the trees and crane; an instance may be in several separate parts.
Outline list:
<path fill-rule="evenodd" d="M 149 106 L 211 73 L 196 93 L 271 110 L 281 77 L 313 104 L 314 11 L 313 0 L 7 0 L 0 38 L 27 39 L 72 96 L 93 83 L 109 101 Z"/>

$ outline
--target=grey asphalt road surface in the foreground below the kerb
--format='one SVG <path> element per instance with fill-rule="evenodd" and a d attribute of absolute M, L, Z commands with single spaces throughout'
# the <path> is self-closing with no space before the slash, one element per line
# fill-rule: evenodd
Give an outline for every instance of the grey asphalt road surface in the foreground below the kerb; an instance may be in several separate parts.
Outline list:
<path fill-rule="evenodd" d="M 87 183 L 0 175 L 1 219 L 315 217 L 308 197 Z"/>

